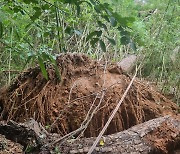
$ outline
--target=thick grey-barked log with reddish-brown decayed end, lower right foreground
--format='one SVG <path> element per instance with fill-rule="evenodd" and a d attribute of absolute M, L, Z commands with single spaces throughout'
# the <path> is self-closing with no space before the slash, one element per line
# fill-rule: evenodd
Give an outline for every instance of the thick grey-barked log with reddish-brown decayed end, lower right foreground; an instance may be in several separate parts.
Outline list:
<path fill-rule="evenodd" d="M 95 139 L 69 140 L 60 146 L 60 151 L 71 154 L 87 153 Z M 94 153 L 163 154 L 175 153 L 177 149 L 180 149 L 180 116 L 165 116 L 104 136 Z"/>

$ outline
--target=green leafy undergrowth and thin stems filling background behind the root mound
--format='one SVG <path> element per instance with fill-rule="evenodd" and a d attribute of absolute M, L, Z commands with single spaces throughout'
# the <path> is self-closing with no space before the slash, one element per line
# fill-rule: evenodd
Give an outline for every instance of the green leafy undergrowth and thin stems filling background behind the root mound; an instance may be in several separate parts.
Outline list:
<path fill-rule="evenodd" d="M 140 77 L 157 81 L 178 102 L 180 56 L 174 50 L 180 45 L 179 6 L 178 0 L 2 0 L 0 75 L 39 64 L 48 80 L 46 64 L 51 63 L 60 80 L 55 55 L 62 52 L 108 55 L 113 61 L 141 54 Z"/>

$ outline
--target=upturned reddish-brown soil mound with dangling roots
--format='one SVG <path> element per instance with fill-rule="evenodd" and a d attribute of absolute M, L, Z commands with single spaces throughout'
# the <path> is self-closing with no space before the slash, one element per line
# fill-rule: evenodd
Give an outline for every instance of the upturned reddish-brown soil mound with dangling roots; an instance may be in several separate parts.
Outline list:
<path fill-rule="evenodd" d="M 97 136 L 131 78 L 116 64 L 93 61 L 82 54 L 59 55 L 57 63 L 60 82 L 53 67 L 47 66 L 48 81 L 36 67 L 1 90 L 1 119 L 24 122 L 32 117 L 62 136 L 88 123 L 84 136 Z M 106 134 L 177 110 L 147 82 L 136 79 Z"/>

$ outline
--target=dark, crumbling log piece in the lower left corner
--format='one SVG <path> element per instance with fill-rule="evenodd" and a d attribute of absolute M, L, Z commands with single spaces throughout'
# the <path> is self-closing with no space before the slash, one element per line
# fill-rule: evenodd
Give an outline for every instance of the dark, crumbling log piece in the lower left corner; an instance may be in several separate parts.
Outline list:
<path fill-rule="evenodd" d="M 25 123 L 17 123 L 14 121 L 1 121 L 0 134 L 7 139 L 20 143 L 24 149 L 31 146 L 33 149 L 42 147 L 47 143 L 48 132 L 34 119 L 30 119 Z"/>

